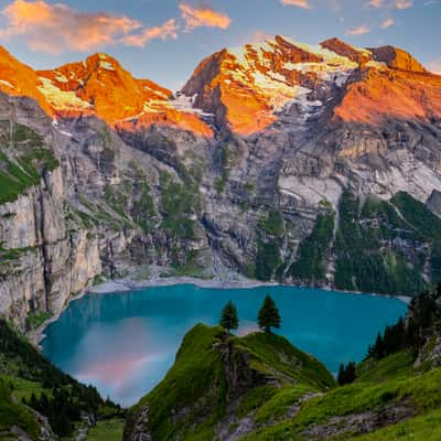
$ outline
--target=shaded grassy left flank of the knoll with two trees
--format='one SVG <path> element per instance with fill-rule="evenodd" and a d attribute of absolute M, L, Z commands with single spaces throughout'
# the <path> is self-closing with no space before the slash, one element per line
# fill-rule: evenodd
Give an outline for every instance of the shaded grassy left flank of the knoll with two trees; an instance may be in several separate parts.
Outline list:
<path fill-rule="evenodd" d="M 165 378 L 137 405 L 149 404 L 149 429 L 154 439 L 189 432 L 192 439 L 212 438 L 212 426 L 225 411 L 226 402 L 220 353 L 213 349 L 222 334 L 220 327 L 196 325 L 185 335 Z M 172 409 L 183 408 L 191 409 L 189 415 L 169 420 Z M 193 428 L 195 421 L 200 423 Z"/>

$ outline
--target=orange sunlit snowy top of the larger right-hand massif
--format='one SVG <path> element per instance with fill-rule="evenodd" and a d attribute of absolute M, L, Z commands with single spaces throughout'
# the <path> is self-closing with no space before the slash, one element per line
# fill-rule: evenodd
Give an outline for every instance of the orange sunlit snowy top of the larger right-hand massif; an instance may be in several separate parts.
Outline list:
<path fill-rule="evenodd" d="M 359 49 L 338 39 L 310 46 L 276 36 L 223 50 L 197 66 L 183 93 L 195 96 L 219 127 L 244 136 L 265 130 L 293 105 L 308 117 L 314 100 L 322 108 L 332 101 L 335 116 L 364 123 L 438 118 L 441 109 L 440 77 L 407 52 Z"/>

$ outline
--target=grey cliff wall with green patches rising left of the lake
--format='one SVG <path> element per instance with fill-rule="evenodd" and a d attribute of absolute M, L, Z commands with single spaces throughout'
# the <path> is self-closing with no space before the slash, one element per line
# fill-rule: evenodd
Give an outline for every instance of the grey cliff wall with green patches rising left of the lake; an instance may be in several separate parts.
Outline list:
<path fill-rule="evenodd" d="M 62 126 L 28 98 L 1 98 L 3 314 L 24 327 L 26 316 L 58 313 L 100 275 L 150 263 L 211 267 L 190 174 L 184 186 L 172 168 L 94 117 Z M 175 166 L 184 153 L 171 152 Z"/>

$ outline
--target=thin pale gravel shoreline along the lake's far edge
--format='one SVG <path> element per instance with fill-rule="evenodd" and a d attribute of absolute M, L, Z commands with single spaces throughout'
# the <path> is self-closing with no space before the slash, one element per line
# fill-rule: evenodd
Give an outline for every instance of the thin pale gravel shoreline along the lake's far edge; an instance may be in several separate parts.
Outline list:
<path fill-rule="evenodd" d="M 297 284 L 283 284 L 276 282 L 263 282 L 260 280 L 247 279 L 244 276 L 234 273 L 228 275 L 228 278 L 214 277 L 213 279 L 204 279 L 196 278 L 190 276 L 170 276 L 163 277 L 161 276 L 160 267 L 157 267 L 153 273 L 146 278 L 137 280 L 132 277 L 125 277 L 121 279 L 115 280 L 106 280 L 101 283 L 98 283 L 94 287 L 87 287 L 84 289 L 78 295 L 75 295 L 66 302 L 60 313 L 51 316 L 45 322 L 43 322 L 36 330 L 33 330 L 28 333 L 28 337 L 30 341 L 41 349 L 41 342 L 46 337 L 44 334 L 45 329 L 56 322 L 61 314 L 68 308 L 71 302 L 75 300 L 79 300 L 87 294 L 109 294 L 109 293 L 125 293 L 133 290 L 140 290 L 146 288 L 157 288 L 157 287 L 173 287 L 176 284 L 191 284 L 198 288 L 207 288 L 207 289 L 254 289 L 254 288 L 265 288 L 265 287 L 292 287 L 292 288 L 313 288 L 306 286 L 297 286 Z M 323 291 L 335 291 L 347 294 L 357 294 L 357 295 L 372 295 L 372 297 L 384 297 L 389 299 L 397 299 L 406 304 L 410 304 L 411 297 L 406 295 L 390 295 L 390 294 L 380 294 L 380 293 L 370 293 L 370 292 L 362 292 L 362 291 L 344 291 L 337 290 L 332 287 L 315 287 L 316 289 Z"/>

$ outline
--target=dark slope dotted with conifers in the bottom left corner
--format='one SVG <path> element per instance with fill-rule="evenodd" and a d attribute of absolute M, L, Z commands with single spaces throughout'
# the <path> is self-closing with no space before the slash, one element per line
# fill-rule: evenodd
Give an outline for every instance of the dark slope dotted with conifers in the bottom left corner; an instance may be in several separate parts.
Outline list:
<path fill-rule="evenodd" d="M 0 434 L 3 439 L 55 440 L 96 418 L 121 417 L 105 401 L 46 361 L 0 319 Z"/>

